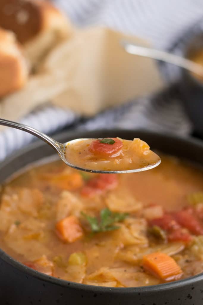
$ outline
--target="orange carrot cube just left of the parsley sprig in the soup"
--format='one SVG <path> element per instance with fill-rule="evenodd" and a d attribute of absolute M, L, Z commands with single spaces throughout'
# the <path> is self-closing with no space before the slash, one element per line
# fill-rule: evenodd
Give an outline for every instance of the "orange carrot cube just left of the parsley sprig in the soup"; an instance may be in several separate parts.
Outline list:
<path fill-rule="evenodd" d="M 56 224 L 56 232 L 65 242 L 75 242 L 83 236 L 83 230 L 78 218 L 74 215 L 65 217 Z"/>

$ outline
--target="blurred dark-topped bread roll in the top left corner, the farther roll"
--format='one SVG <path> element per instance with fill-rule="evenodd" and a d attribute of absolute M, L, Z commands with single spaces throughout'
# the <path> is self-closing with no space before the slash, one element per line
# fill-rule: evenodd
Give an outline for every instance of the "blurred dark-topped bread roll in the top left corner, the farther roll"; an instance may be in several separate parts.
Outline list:
<path fill-rule="evenodd" d="M 0 27 L 16 34 L 33 65 L 72 32 L 67 18 L 40 0 L 0 0 Z"/>

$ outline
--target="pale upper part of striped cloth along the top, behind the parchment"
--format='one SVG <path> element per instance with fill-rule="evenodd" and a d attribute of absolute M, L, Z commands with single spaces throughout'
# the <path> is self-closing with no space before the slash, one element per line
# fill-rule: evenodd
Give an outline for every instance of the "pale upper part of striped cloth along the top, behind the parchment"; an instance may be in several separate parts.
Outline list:
<path fill-rule="evenodd" d="M 202 0 L 52 0 L 79 27 L 105 25 L 170 48 L 203 18 Z"/>

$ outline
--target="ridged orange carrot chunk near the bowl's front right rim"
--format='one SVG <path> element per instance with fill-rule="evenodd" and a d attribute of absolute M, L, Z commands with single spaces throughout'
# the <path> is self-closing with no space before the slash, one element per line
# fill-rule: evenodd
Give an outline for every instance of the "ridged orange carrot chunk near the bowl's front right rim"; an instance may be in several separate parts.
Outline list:
<path fill-rule="evenodd" d="M 146 271 L 164 281 L 175 281 L 183 274 L 176 261 L 162 252 L 154 252 L 143 257 Z"/>

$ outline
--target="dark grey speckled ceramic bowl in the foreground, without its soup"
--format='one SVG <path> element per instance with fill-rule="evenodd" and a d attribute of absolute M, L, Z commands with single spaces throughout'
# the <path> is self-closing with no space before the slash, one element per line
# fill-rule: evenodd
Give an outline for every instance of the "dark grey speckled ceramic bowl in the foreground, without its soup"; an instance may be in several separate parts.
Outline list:
<path fill-rule="evenodd" d="M 74 138 L 139 137 L 152 149 L 187 159 L 202 166 L 203 143 L 193 139 L 149 131 L 65 132 L 55 138 L 66 142 Z M 16 152 L 0 164 L 0 183 L 32 162 L 53 155 L 53 150 L 36 142 Z M 203 303 L 203 274 L 148 287 L 109 288 L 83 285 L 49 277 L 12 259 L 0 250 L 1 305 L 200 305 Z"/>

